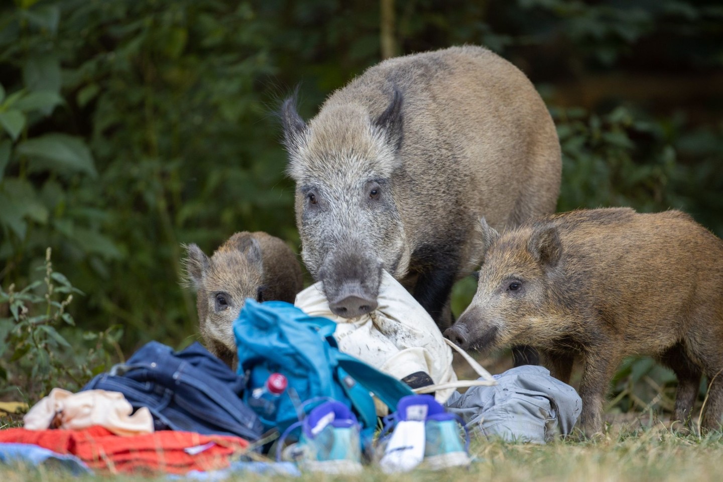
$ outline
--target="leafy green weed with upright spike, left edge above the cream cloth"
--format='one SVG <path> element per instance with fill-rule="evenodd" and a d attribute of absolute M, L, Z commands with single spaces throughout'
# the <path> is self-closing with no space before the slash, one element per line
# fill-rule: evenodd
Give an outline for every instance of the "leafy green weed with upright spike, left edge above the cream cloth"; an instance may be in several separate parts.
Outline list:
<path fill-rule="evenodd" d="M 20 390 L 33 399 L 46 395 L 57 384 L 80 390 L 91 376 L 106 370 L 123 330 L 114 325 L 103 332 L 83 331 L 66 311 L 74 288 L 67 277 L 53 270 L 51 249 L 38 267 L 45 273 L 37 280 L 7 293 L 0 288 L 0 306 L 9 317 L 0 318 L 0 379 L 4 392 Z M 118 353 L 118 352 L 116 352 Z"/>

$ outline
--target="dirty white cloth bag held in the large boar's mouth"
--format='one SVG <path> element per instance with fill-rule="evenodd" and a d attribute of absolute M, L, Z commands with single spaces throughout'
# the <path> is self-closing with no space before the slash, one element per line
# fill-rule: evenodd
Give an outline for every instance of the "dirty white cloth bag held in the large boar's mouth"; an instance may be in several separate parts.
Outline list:
<path fill-rule="evenodd" d="M 307 314 L 337 323 L 334 337 L 339 349 L 381 371 L 403 379 L 424 371 L 435 384 L 455 382 L 452 350 L 432 317 L 388 272 L 382 272 L 377 309 L 356 318 L 333 314 L 322 290 L 322 282 L 296 295 L 294 303 Z M 453 388 L 437 390 L 435 399 L 444 403 Z"/>

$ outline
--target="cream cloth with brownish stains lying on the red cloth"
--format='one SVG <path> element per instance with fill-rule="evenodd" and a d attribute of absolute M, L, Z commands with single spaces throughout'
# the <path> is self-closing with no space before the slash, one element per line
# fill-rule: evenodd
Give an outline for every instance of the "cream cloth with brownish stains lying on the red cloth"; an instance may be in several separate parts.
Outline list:
<path fill-rule="evenodd" d="M 50 395 L 33 405 L 22 418 L 25 429 L 87 429 L 102 426 L 116 435 L 132 436 L 153 432 L 153 416 L 146 407 L 133 412 L 121 392 L 87 390 L 72 393 L 54 388 Z"/>

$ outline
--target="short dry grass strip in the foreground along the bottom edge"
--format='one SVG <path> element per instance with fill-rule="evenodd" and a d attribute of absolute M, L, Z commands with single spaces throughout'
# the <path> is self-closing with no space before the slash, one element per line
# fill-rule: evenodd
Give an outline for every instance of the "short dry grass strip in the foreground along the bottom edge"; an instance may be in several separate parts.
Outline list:
<path fill-rule="evenodd" d="M 458 481 L 719 481 L 723 476 L 723 436 L 682 436 L 666 429 L 630 429 L 614 426 L 606 436 L 594 441 L 560 440 L 547 445 L 508 444 L 474 440 L 471 452 L 478 461 L 467 469 L 443 472 L 414 470 L 400 475 L 385 475 L 369 467 L 361 475 L 331 476 L 304 474 L 301 482 L 388 481 L 388 482 L 458 482 Z M 97 481 L 107 475 L 80 478 L 59 473 L 52 468 L 0 467 L 0 480 L 24 481 Z M 158 478 L 119 475 L 114 481 L 161 481 Z M 231 481 L 275 481 L 282 477 L 239 474 Z"/>

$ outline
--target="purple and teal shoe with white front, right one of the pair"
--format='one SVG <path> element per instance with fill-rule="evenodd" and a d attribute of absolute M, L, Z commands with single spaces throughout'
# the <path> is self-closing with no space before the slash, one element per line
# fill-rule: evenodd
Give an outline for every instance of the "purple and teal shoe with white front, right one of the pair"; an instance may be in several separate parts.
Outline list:
<path fill-rule="evenodd" d="M 459 425 L 464 429 L 464 442 Z M 388 431 L 393 430 L 390 435 Z M 397 411 L 385 418 L 379 447 L 386 473 L 406 472 L 417 466 L 439 470 L 469 465 L 469 432 L 461 418 L 432 395 L 410 395 L 399 400 Z"/>

